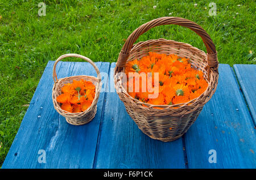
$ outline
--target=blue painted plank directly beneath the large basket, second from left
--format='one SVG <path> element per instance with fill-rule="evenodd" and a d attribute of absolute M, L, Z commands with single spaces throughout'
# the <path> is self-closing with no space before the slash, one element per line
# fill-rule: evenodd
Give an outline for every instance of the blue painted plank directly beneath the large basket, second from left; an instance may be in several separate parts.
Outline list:
<path fill-rule="evenodd" d="M 113 85 L 112 78 L 109 89 Z M 144 135 L 116 92 L 107 92 L 103 113 L 96 168 L 185 168 L 182 139 L 164 143 Z"/>

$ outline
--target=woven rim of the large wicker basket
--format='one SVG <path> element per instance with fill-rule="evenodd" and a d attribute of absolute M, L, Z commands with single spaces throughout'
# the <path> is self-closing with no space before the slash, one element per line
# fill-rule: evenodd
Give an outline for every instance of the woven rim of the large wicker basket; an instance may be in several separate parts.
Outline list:
<path fill-rule="evenodd" d="M 205 59 L 207 58 L 207 53 L 205 53 L 203 50 L 200 50 L 199 48 L 196 48 L 195 46 L 192 46 L 191 44 L 188 44 L 188 43 L 185 43 L 185 42 L 174 41 L 174 40 L 167 40 L 167 39 L 165 39 L 165 38 L 152 39 L 152 40 L 147 40 L 147 41 L 140 41 L 140 42 L 138 42 L 137 44 L 134 44 L 134 45 L 133 45 L 133 48 L 131 48 L 131 50 L 130 50 L 129 57 L 130 57 L 131 52 L 133 52 L 134 48 L 138 48 L 138 47 L 141 48 L 141 47 L 143 47 L 144 44 L 147 44 L 147 42 L 150 42 L 150 41 L 177 42 L 177 43 L 179 43 L 179 44 L 181 44 L 181 45 L 188 46 L 188 48 L 191 48 L 191 49 L 194 49 L 194 50 L 197 50 L 197 51 L 201 52 L 203 55 L 205 55 Z M 140 46 L 141 46 L 141 47 L 140 47 Z M 127 58 L 127 62 L 132 61 L 131 59 L 129 59 L 129 57 Z M 218 67 L 217 67 L 217 69 L 218 69 Z M 125 71 L 125 68 L 123 68 L 123 71 Z M 213 73 L 213 72 L 212 72 L 212 69 L 210 70 L 210 73 Z M 120 80 L 120 79 L 117 79 L 117 73 L 115 73 L 115 75 L 114 75 L 115 89 L 118 88 L 118 87 L 117 87 L 117 83 L 118 83 L 119 80 Z M 206 80 L 207 80 L 207 79 L 206 79 Z M 208 83 L 209 83 L 209 82 L 208 82 Z M 217 76 L 216 81 L 215 81 L 214 83 L 216 83 L 216 87 L 217 87 L 218 76 Z M 190 101 L 188 101 L 188 102 L 184 102 L 184 103 L 180 103 L 180 104 L 175 104 L 175 105 L 153 105 L 153 104 L 148 104 L 148 103 L 146 103 L 146 102 L 139 101 L 139 100 L 137 100 L 137 99 L 131 97 L 131 96 L 129 95 L 129 93 L 127 93 L 127 91 L 125 90 L 125 88 L 123 87 L 122 83 L 121 83 L 121 86 L 122 86 L 122 87 L 119 87 L 119 88 L 121 88 L 121 92 L 117 92 L 118 95 L 123 93 L 123 94 L 125 94 L 127 97 L 129 97 L 129 99 L 133 100 L 138 106 L 143 107 L 143 105 L 144 105 L 144 106 L 146 106 L 147 108 L 149 108 L 150 110 L 154 110 L 154 111 L 157 111 L 157 112 L 159 112 L 159 111 L 162 112 L 163 110 L 166 110 L 166 109 L 177 109 L 177 110 L 178 110 L 178 109 L 186 108 L 188 105 L 193 106 L 193 105 L 196 104 L 197 100 L 203 100 L 203 99 L 205 99 L 205 98 L 202 98 L 203 95 L 204 95 L 204 93 L 210 90 L 210 86 L 209 86 L 209 84 L 208 84 L 207 89 L 205 89 L 205 91 L 204 91 L 203 93 L 201 93 L 201 95 L 200 95 L 199 97 L 196 97 L 196 98 L 194 98 L 193 100 L 190 100 Z M 216 91 L 216 88 L 213 89 L 213 93 L 214 93 L 215 91 Z M 205 102 L 205 103 L 206 103 L 206 102 Z M 205 104 L 205 103 L 204 103 L 204 104 Z M 163 108 L 163 109 L 157 109 L 157 108 Z"/>

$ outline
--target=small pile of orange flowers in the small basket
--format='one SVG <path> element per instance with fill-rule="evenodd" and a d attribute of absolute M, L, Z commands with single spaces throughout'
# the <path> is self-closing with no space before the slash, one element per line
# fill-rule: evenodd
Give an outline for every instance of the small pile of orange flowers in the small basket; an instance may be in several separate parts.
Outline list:
<path fill-rule="evenodd" d="M 61 109 L 69 113 L 81 113 L 90 107 L 95 96 L 95 85 L 92 82 L 73 80 L 61 88 L 62 94 L 57 96 Z"/>

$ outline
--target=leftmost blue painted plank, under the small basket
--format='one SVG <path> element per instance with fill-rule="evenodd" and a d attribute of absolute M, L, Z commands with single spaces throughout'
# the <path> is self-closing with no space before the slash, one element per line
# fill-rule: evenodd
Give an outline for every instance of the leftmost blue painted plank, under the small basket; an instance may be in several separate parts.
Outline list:
<path fill-rule="evenodd" d="M 92 168 L 96 151 L 104 92 L 100 94 L 97 114 L 83 126 L 69 125 L 52 104 L 52 61 L 36 88 L 30 107 L 24 115 L 18 133 L 2 168 Z M 97 62 L 101 72 L 108 73 L 109 63 Z M 93 75 L 89 63 L 60 62 L 57 76 Z M 46 152 L 46 163 L 39 163 L 39 150 Z"/>

